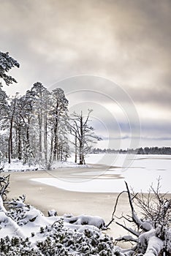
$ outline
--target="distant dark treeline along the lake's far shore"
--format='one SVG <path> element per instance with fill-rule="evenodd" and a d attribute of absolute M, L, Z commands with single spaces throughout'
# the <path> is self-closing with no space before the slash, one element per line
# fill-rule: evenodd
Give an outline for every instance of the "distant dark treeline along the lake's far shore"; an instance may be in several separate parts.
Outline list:
<path fill-rule="evenodd" d="M 145 147 L 145 148 L 127 148 L 127 149 L 111 149 L 111 148 L 94 148 L 92 153 L 100 154 L 100 153 L 107 153 L 107 154 L 171 154 L 170 147 Z"/>

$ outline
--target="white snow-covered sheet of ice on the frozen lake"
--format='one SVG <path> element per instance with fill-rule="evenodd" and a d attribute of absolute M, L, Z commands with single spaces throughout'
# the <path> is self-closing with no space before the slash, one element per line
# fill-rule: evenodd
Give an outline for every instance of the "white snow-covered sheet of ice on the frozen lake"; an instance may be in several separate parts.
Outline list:
<path fill-rule="evenodd" d="M 107 193 L 121 192 L 126 181 L 135 192 L 148 192 L 151 184 L 156 187 L 160 177 L 161 192 L 171 192 L 170 155 L 90 154 L 86 163 L 90 166 L 74 170 L 68 167 L 68 176 L 59 170 L 56 177 L 34 181 L 75 192 Z"/>

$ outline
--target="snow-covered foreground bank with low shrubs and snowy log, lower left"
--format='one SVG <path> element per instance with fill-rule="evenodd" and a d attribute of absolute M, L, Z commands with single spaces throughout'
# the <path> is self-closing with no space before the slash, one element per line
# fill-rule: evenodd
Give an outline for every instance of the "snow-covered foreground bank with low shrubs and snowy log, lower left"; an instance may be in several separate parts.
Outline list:
<path fill-rule="evenodd" d="M 25 197 L 12 200 L 9 211 L 1 212 L 1 256 L 115 255 L 113 239 L 102 234 L 98 228 L 104 225 L 102 218 L 88 215 L 74 217 L 72 214 L 45 217 L 24 201 Z M 69 222 L 71 219 L 73 223 Z M 10 236 L 4 237 L 7 229 Z"/>

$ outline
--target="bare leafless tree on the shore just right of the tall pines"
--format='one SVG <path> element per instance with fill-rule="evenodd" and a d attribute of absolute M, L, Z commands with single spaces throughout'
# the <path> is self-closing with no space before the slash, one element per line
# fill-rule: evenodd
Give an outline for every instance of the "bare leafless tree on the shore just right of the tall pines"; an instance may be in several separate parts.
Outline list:
<path fill-rule="evenodd" d="M 69 123 L 71 134 L 74 136 L 75 141 L 75 162 L 77 162 L 77 154 L 79 155 L 80 165 L 85 164 L 85 156 L 90 153 L 90 143 L 96 140 L 102 140 L 94 133 L 94 127 L 91 127 L 88 122 L 90 121 L 90 114 L 93 110 L 88 109 L 88 114 L 83 116 L 83 111 L 79 113 L 72 113 Z"/>

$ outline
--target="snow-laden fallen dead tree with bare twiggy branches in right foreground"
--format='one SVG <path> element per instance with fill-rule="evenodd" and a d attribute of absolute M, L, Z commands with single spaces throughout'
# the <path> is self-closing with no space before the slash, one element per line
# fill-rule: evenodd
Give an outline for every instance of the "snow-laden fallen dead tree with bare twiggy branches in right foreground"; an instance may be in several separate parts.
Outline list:
<path fill-rule="evenodd" d="M 129 206 L 131 208 L 131 216 L 122 216 L 124 224 L 115 221 L 115 211 L 118 205 L 118 200 L 121 195 L 126 192 L 129 197 Z M 171 200 L 166 197 L 167 194 L 160 193 L 160 179 L 156 189 L 151 186 L 148 195 L 140 193 L 140 195 L 130 192 L 126 183 L 126 191 L 121 192 L 115 202 L 113 215 L 109 225 L 115 223 L 131 234 L 131 236 L 122 236 L 116 241 L 134 242 L 135 246 L 132 249 L 123 250 L 124 253 L 132 253 L 133 255 L 145 256 L 167 256 L 171 253 Z M 138 217 L 134 206 L 140 209 Z M 129 223 L 129 225 L 128 225 Z M 131 225 L 131 227 L 130 227 Z M 126 254 L 125 254 L 126 255 Z"/>

